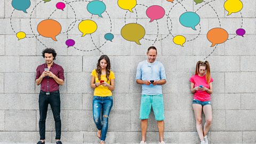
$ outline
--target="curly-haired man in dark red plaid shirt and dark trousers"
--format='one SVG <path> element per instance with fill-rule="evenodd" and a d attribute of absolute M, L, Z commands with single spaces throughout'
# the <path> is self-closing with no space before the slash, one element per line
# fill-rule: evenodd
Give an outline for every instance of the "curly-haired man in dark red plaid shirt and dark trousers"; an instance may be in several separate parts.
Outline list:
<path fill-rule="evenodd" d="M 37 144 L 45 143 L 45 119 L 47 108 L 50 103 L 56 131 L 56 143 L 61 143 L 61 120 L 60 120 L 60 92 L 59 85 L 64 84 L 64 70 L 61 66 L 53 62 L 57 53 L 54 49 L 45 49 L 42 56 L 45 63 L 39 65 L 36 69 L 36 85 L 41 84 L 39 93 L 39 134 L 40 140 Z"/>

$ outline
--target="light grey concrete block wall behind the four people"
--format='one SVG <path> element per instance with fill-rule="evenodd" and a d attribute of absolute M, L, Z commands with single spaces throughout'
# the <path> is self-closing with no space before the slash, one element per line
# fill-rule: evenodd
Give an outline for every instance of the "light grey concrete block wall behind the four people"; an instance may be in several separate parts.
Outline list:
<path fill-rule="evenodd" d="M 154 45 L 158 49 L 157 60 L 163 63 L 167 76 L 167 83 L 163 86 L 165 142 L 199 143 L 191 107 L 193 95 L 189 91 L 188 79 L 194 74 L 196 62 L 204 60 L 214 50 L 214 47 L 210 47 L 211 43 L 207 41 L 206 34 L 211 28 L 219 27 L 220 21 L 221 28 L 228 31 L 230 39 L 219 44 L 205 59 L 210 62 L 214 79 L 213 121 L 209 140 L 210 143 L 256 143 L 256 0 L 242 1 L 242 18 L 240 12 L 227 16 L 223 7 L 224 0 L 204 1 L 197 5 L 191 0 L 179 3 L 175 0 L 174 3 L 164 0 L 137 0 L 138 5 L 134 13 L 126 13 L 118 7 L 117 1 L 103 1 L 110 19 L 106 13 L 102 14 L 103 18 L 92 16 L 86 11 L 86 1 L 67 1 L 71 6 L 66 5 L 64 11 L 57 10 L 52 14 L 51 18 L 61 23 L 62 31 L 67 31 L 75 19 L 92 19 L 97 22 L 98 29 L 92 34 L 92 39 L 96 46 L 101 46 L 100 51 L 87 51 L 95 49 L 95 45 L 90 35 L 81 37 L 77 29 L 78 22 L 69 31 L 68 36 L 76 39 L 75 46 L 82 51 L 74 47 L 67 48 L 67 34 L 58 35 L 58 42 L 52 41 L 51 38 L 38 37 L 37 40 L 33 37 L 31 29 L 37 34 L 37 24 L 47 19 L 56 10 L 55 4 L 61 1 L 52 0 L 46 4 L 40 2 L 41 0 L 31 1 L 27 14 L 13 11 L 11 0 L 2 0 L 0 4 L 0 142 L 31 143 L 39 139 L 40 87 L 35 84 L 35 71 L 36 67 L 44 62 L 41 56 L 42 50 L 45 49 L 42 44 L 44 43 L 57 51 L 55 62 L 65 70 L 65 85 L 60 86 L 62 142 L 99 141 L 92 118 L 93 90 L 90 87 L 90 75 L 102 53 L 109 56 L 111 70 L 116 76 L 114 105 L 110 113 L 106 141 L 140 141 L 141 86 L 135 83 L 135 73 L 138 63 L 146 59 L 147 48 Z M 33 11 L 36 4 L 38 6 Z M 149 23 L 146 6 L 151 5 L 164 7 L 165 14 L 169 14 L 171 20 L 165 15 L 164 18 Z M 199 9 L 200 6 L 202 7 Z M 180 25 L 179 16 L 186 12 L 185 9 L 197 11 L 200 15 L 200 26 L 196 26 L 201 31 L 199 35 L 198 30 Z M 120 33 L 125 22 L 136 21 L 146 30 L 145 37 L 140 40 L 141 45 L 126 41 Z M 244 37 L 236 36 L 235 33 L 235 30 L 241 27 L 246 30 Z M 109 33 L 110 29 L 115 38 L 113 42 L 105 43 L 103 36 Z M 16 33 L 24 31 L 27 38 L 17 41 L 13 30 Z M 195 39 L 186 42 L 184 47 L 175 45 L 169 30 L 173 36 L 183 35 L 187 39 Z M 162 40 L 154 42 L 156 38 Z M 54 137 L 54 119 L 49 106 L 46 120 L 47 142 L 54 142 Z M 158 142 L 153 113 L 149 118 L 147 141 Z"/>

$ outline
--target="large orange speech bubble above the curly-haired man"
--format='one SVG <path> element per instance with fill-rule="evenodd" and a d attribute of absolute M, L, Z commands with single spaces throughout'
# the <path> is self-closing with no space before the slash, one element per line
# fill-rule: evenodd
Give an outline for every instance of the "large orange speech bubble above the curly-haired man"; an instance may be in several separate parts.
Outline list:
<path fill-rule="evenodd" d="M 38 33 L 43 37 L 51 37 L 53 41 L 57 41 L 56 36 L 60 34 L 61 25 L 58 21 L 47 19 L 38 23 Z"/>

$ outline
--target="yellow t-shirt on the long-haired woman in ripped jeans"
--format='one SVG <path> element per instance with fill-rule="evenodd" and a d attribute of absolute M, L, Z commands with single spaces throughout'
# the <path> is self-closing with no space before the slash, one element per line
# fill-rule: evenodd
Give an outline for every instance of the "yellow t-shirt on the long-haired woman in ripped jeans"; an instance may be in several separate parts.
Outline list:
<path fill-rule="evenodd" d="M 96 69 L 92 70 L 91 75 L 95 77 L 95 83 L 100 82 L 99 78 L 98 78 L 98 74 L 96 73 Z M 106 75 L 100 76 L 100 80 L 104 80 L 104 82 L 107 82 L 108 84 L 110 84 L 110 79 L 115 79 L 115 75 L 114 75 L 113 71 L 111 71 L 111 70 L 110 70 L 108 79 L 109 80 L 107 81 Z M 107 86 L 100 85 L 94 89 L 94 95 L 100 96 L 100 97 L 107 97 L 107 96 L 112 96 L 112 92 L 108 89 Z"/>

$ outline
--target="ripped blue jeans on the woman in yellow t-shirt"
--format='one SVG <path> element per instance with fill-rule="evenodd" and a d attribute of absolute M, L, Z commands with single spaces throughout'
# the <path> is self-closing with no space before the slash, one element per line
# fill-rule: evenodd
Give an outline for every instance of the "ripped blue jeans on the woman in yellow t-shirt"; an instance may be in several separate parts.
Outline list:
<path fill-rule="evenodd" d="M 92 102 L 93 120 L 98 130 L 101 130 L 100 140 L 105 141 L 108 131 L 108 117 L 113 106 L 113 98 L 94 96 Z M 102 112 L 101 112 L 102 109 Z"/>

